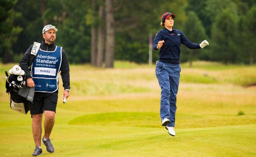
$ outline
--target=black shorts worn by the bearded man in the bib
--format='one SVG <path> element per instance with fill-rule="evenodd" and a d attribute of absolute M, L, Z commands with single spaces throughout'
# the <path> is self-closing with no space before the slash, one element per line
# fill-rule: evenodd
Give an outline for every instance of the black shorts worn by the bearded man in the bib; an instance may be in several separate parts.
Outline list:
<path fill-rule="evenodd" d="M 33 104 L 30 104 L 30 114 L 41 114 L 43 111 L 54 111 L 58 101 L 58 91 L 53 93 L 35 92 Z"/>

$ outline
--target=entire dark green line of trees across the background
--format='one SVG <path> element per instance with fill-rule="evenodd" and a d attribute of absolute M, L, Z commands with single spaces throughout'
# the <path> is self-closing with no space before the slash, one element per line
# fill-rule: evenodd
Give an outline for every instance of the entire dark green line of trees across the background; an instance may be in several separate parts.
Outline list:
<path fill-rule="evenodd" d="M 208 60 L 255 64 L 256 0 L 1 0 L 0 62 L 18 62 L 41 30 L 53 24 L 56 44 L 69 62 L 113 67 L 114 60 L 146 63 L 149 37 L 162 13 L 176 14 L 174 29 L 206 49 L 181 46 L 181 62 Z M 151 39 L 153 40 L 153 39 Z M 153 61 L 158 51 L 153 51 Z"/>

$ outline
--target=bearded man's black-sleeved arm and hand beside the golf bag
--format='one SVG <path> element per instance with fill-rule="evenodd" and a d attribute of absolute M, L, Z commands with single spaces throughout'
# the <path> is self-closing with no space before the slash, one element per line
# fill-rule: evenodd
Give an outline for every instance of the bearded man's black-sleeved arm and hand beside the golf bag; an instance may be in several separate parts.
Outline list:
<path fill-rule="evenodd" d="M 24 53 L 24 55 L 23 55 L 23 57 L 21 58 L 21 61 L 20 61 L 20 67 L 23 71 L 25 71 L 26 78 L 27 78 L 27 86 L 29 86 L 29 87 L 34 86 L 34 81 L 32 80 L 30 70 L 28 68 L 28 63 L 29 63 L 29 60 L 30 60 L 30 52 L 31 52 L 32 46 L 33 45 L 31 45 L 27 49 L 27 51 Z"/>

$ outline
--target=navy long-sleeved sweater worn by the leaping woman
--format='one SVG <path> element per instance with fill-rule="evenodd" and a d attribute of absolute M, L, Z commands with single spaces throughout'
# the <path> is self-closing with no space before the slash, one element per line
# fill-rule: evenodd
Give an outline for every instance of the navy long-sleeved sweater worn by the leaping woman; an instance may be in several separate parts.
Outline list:
<path fill-rule="evenodd" d="M 157 49 L 159 41 L 165 40 L 159 51 L 159 61 L 171 64 L 180 64 L 181 43 L 187 46 L 189 49 L 200 49 L 199 44 L 190 42 L 187 37 L 178 29 L 169 31 L 168 29 L 162 29 L 155 35 L 153 48 Z"/>

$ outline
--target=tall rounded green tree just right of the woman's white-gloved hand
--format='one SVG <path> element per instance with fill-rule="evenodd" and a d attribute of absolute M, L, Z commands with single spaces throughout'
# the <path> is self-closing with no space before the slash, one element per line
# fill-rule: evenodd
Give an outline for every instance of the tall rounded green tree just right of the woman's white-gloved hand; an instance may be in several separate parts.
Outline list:
<path fill-rule="evenodd" d="M 237 61 L 238 46 L 235 42 L 235 34 L 238 33 L 237 14 L 230 9 L 224 9 L 216 16 L 213 22 L 211 36 L 211 56 L 213 60 L 222 61 L 225 64 Z"/>

